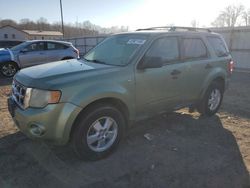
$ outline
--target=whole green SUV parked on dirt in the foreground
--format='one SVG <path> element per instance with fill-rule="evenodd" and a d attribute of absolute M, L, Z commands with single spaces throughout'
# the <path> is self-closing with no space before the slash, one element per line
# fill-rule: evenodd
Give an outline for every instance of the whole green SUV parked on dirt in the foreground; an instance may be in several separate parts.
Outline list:
<path fill-rule="evenodd" d="M 155 27 L 108 37 L 83 59 L 20 70 L 8 99 L 30 138 L 70 142 L 83 159 L 110 154 L 132 122 L 189 107 L 220 107 L 233 61 L 219 34 Z"/>

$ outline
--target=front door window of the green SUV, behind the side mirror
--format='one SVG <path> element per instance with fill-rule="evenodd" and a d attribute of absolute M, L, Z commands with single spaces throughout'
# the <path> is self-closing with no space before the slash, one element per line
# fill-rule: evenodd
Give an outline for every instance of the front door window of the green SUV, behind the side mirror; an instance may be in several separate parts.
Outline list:
<path fill-rule="evenodd" d="M 164 63 L 179 60 L 178 39 L 176 37 L 157 39 L 145 56 L 149 58 L 160 58 Z"/>

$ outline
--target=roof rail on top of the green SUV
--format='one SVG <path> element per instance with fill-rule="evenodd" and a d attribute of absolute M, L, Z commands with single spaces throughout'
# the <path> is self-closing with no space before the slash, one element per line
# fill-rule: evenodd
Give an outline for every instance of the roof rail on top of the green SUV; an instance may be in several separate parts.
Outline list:
<path fill-rule="evenodd" d="M 150 27 L 145 29 L 137 29 L 136 31 L 145 31 L 145 30 L 168 30 L 168 31 L 205 31 L 211 33 L 212 31 L 207 28 L 198 28 L 198 27 L 180 27 L 180 26 L 163 26 L 163 27 Z"/>

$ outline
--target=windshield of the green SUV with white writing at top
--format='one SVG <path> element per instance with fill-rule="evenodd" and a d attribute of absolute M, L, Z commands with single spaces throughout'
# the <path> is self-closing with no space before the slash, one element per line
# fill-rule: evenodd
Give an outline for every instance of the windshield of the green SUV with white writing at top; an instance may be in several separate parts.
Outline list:
<path fill-rule="evenodd" d="M 137 48 L 146 42 L 145 35 L 116 35 L 105 39 L 97 45 L 84 59 L 94 63 L 123 66 Z"/>

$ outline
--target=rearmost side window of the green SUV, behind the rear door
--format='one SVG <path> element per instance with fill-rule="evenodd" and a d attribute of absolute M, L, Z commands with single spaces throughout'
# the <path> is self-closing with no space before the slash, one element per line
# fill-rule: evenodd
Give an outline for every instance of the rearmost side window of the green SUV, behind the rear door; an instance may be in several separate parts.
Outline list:
<path fill-rule="evenodd" d="M 207 39 L 218 57 L 228 56 L 228 50 L 223 40 L 221 40 L 219 37 L 207 37 Z"/>

